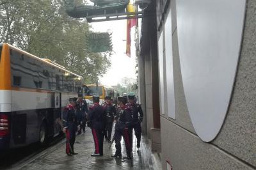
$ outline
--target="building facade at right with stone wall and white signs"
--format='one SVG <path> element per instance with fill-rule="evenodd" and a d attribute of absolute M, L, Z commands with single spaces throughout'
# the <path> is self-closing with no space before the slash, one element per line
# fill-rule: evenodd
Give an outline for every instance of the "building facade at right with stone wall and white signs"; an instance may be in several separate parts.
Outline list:
<path fill-rule="evenodd" d="M 141 22 L 143 132 L 163 169 L 256 168 L 256 1 L 152 1 Z"/>

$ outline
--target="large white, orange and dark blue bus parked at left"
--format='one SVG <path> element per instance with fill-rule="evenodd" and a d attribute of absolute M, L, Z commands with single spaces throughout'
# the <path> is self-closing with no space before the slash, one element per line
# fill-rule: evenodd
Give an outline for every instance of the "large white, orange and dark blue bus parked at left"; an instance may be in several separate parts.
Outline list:
<path fill-rule="evenodd" d="M 58 118 L 81 92 L 79 75 L 7 43 L 0 44 L 0 150 L 47 143 Z"/>

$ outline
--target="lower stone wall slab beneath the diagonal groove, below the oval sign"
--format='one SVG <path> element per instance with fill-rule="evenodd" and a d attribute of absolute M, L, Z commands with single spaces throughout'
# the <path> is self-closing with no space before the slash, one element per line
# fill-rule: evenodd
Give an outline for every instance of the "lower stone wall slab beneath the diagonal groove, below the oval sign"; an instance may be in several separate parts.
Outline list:
<path fill-rule="evenodd" d="M 202 142 L 196 135 L 161 118 L 163 169 L 166 160 L 173 169 L 252 169 L 212 144 Z"/>

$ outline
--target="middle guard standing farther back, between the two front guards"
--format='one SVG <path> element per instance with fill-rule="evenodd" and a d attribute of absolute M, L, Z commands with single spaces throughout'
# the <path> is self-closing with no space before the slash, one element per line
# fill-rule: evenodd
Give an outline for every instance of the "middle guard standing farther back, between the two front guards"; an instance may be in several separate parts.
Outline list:
<path fill-rule="evenodd" d="M 113 127 L 113 121 L 114 121 L 114 115 L 115 115 L 115 107 L 113 104 L 111 104 L 111 97 L 105 98 L 106 102 L 104 103 L 104 111 L 106 114 L 106 128 L 105 128 L 105 138 L 106 141 L 110 143 L 111 140 L 111 133 L 112 133 L 112 127 Z"/>

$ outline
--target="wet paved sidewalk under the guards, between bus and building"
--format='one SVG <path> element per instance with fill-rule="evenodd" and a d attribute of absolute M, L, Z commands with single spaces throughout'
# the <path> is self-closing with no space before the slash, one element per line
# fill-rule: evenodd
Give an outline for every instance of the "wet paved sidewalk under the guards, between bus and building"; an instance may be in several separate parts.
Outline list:
<path fill-rule="evenodd" d="M 112 134 L 113 135 L 113 134 Z M 115 142 L 109 149 L 109 143 L 104 141 L 104 156 L 91 157 L 95 151 L 92 131 L 86 128 L 85 134 L 76 136 L 74 150 L 78 155 L 68 157 L 65 154 L 65 140 L 51 148 L 13 165 L 10 169 L 158 169 L 150 151 L 147 137 L 141 138 L 141 148 L 136 148 L 136 137 L 133 141 L 133 159 L 112 158 L 115 153 Z M 124 141 L 122 140 L 122 155 L 126 156 Z"/>

